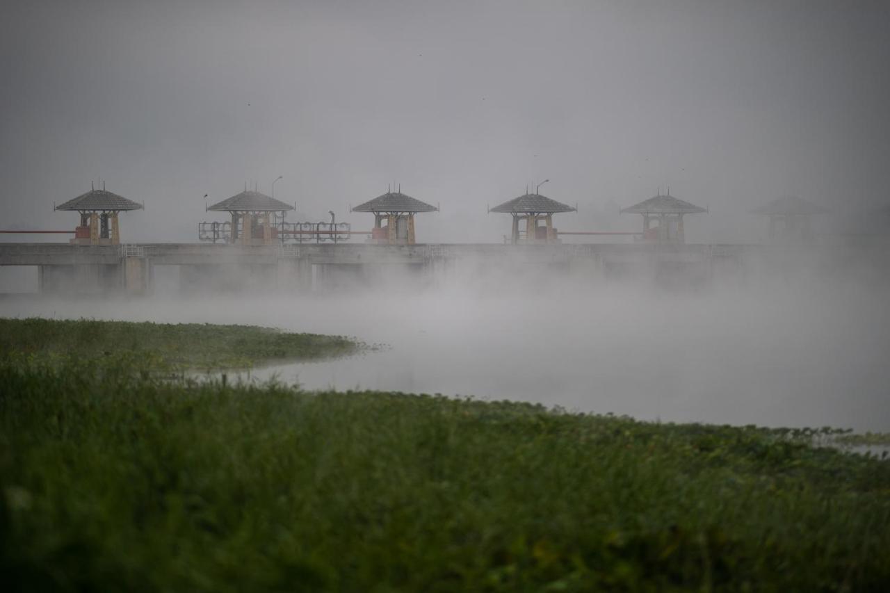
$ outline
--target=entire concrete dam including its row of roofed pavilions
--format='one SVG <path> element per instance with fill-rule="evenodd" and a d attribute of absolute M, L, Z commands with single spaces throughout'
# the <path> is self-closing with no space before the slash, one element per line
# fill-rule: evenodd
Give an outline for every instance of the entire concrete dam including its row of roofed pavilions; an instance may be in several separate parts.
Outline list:
<path fill-rule="evenodd" d="M 622 210 L 643 215 L 643 232 L 561 232 L 552 215 L 576 208 L 546 199 L 537 193 L 538 187 L 534 194 L 527 192 L 490 210 L 513 217 L 510 240 L 501 244 L 417 242 L 414 215 L 439 208 L 401 191 L 388 191 L 352 208 L 374 215 L 373 228 L 357 231 L 350 223 L 337 223 L 333 211 L 329 223 L 286 222 L 291 205 L 247 189 L 206 208 L 228 214 L 231 221 L 199 223 L 199 242 L 125 242 L 117 212 L 142 205 L 103 186 L 58 207 L 80 213 L 74 231 L 3 231 L 71 233 L 75 238 L 66 243 L 0 242 L 0 266 L 36 266 L 36 289 L 41 293 L 144 295 L 155 288 L 158 272 L 166 268 L 164 278 L 170 277 L 170 267 L 178 268 L 178 286 L 184 291 L 300 294 L 363 286 L 400 288 L 401 283 L 436 282 L 462 272 L 468 279 L 520 277 L 523 290 L 534 290 L 567 276 L 594 281 L 648 278 L 684 286 L 716 276 L 743 279 L 763 271 L 781 275 L 820 266 L 862 268 L 863 263 L 886 272 L 890 262 L 883 234 L 817 240 L 808 220 L 817 211 L 801 206 L 802 200 L 758 211 L 771 221 L 781 218 L 780 223 L 794 230 L 805 228 L 796 240 L 690 244 L 685 242 L 683 217 L 707 209 L 669 192 Z M 805 216 L 805 223 L 799 223 Z M 539 221 L 545 225 L 539 226 Z M 780 223 L 771 223 L 771 230 Z M 562 235 L 628 235 L 629 242 L 563 243 Z"/>

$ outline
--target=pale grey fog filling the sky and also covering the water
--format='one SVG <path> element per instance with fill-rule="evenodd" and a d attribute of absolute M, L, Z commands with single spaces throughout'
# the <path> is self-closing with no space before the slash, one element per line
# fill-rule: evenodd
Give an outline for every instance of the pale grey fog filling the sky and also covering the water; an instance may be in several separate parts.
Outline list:
<path fill-rule="evenodd" d="M 670 286 L 465 262 L 429 281 L 311 294 L 0 296 L 0 315 L 250 323 L 383 349 L 255 370 L 311 389 L 473 394 L 636 418 L 890 430 L 890 4 L 13 0 L 0 20 L 0 227 L 69 230 L 53 204 L 107 183 L 144 202 L 123 242 L 195 242 L 245 183 L 293 220 L 367 229 L 391 183 L 441 212 L 425 243 L 501 243 L 489 206 L 549 180 L 561 231 L 670 186 L 688 243 L 757 244 L 797 195 L 820 244 L 873 252 L 751 264 Z M 546 191 L 545 191 L 546 190 Z M 884 208 L 885 214 L 879 215 Z M 58 241 L 61 235 L 2 235 Z M 570 237 L 567 242 L 588 238 Z M 602 239 L 605 241 L 606 239 Z M 630 239 L 609 239 L 630 242 Z M 880 246 L 884 247 L 880 247 Z M 847 254 L 848 255 L 848 254 Z M 0 293 L 36 290 L 0 269 Z"/>

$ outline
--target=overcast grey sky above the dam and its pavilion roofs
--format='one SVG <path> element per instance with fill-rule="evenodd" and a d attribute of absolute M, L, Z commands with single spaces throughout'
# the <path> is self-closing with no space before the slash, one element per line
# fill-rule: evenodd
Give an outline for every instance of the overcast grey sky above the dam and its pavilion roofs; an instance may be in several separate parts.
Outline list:
<path fill-rule="evenodd" d="M 284 175 L 313 220 L 369 227 L 348 206 L 394 180 L 441 203 L 418 240 L 498 241 L 486 204 L 549 178 L 563 230 L 669 184 L 711 209 L 689 240 L 744 239 L 782 194 L 887 203 L 888 30 L 886 2 L 7 2 L 2 226 L 73 227 L 53 201 L 101 179 L 147 207 L 125 240 L 197 240 L 205 193 Z"/>

